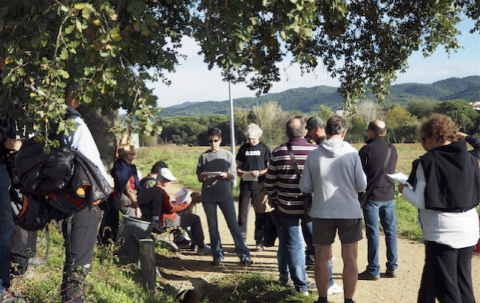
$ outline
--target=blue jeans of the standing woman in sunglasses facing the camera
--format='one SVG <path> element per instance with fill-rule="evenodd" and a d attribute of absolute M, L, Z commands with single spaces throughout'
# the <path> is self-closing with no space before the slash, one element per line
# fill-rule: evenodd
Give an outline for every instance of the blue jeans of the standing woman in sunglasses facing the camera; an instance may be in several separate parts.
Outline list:
<path fill-rule="evenodd" d="M 222 261 L 224 256 L 220 234 L 218 233 L 217 205 L 223 213 L 223 217 L 225 218 L 230 234 L 232 235 L 233 242 L 235 242 L 236 254 L 241 261 L 244 261 L 245 258 L 250 258 L 250 251 L 248 250 L 247 245 L 245 245 L 242 233 L 236 222 L 233 200 L 224 202 L 203 202 L 202 204 L 205 214 L 207 215 L 208 232 L 210 234 L 210 245 L 214 261 Z"/>

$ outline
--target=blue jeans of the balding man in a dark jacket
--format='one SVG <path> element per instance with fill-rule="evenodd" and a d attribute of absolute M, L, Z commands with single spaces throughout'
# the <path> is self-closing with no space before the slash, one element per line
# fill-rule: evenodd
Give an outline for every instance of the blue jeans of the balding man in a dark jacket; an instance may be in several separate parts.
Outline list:
<path fill-rule="evenodd" d="M 380 216 L 383 233 L 385 233 L 387 269 L 394 270 L 398 268 L 395 200 L 388 202 L 366 201 L 363 207 L 363 217 L 365 218 L 365 235 L 368 241 L 367 272 L 374 276 L 380 274 L 380 266 L 378 265 L 378 250 L 380 246 L 378 216 Z"/>

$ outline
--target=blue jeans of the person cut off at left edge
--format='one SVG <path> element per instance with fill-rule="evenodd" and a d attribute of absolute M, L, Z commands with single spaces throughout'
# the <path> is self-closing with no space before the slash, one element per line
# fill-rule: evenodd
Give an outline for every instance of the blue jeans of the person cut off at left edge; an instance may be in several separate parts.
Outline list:
<path fill-rule="evenodd" d="M 10 176 L 0 164 L 0 292 L 10 287 L 10 250 L 13 216 L 10 206 Z"/>

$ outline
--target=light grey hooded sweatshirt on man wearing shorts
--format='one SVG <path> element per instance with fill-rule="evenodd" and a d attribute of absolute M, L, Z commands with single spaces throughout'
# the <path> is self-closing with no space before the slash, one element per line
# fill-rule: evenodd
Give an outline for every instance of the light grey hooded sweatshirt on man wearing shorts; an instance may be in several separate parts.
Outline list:
<path fill-rule="evenodd" d="M 362 162 L 348 142 L 329 139 L 308 154 L 300 190 L 313 192 L 312 218 L 361 219 L 358 192 L 366 187 Z"/>

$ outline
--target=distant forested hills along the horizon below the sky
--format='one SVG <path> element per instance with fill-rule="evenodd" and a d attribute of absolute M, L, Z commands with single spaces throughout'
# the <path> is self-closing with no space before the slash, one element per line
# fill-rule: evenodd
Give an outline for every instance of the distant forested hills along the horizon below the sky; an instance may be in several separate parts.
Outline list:
<path fill-rule="evenodd" d="M 371 93 L 366 95 L 374 99 Z M 438 101 L 462 99 L 468 102 L 480 101 L 480 76 L 464 78 L 448 78 L 431 84 L 404 83 L 395 84 L 390 88 L 390 96 L 386 104 L 405 105 L 413 99 L 434 99 Z M 300 110 L 304 113 L 317 111 L 320 104 L 333 110 L 343 108 L 343 99 L 333 86 L 319 85 L 313 88 L 291 89 L 281 93 L 267 94 L 258 98 L 233 99 L 234 107 L 251 109 L 268 101 L 277 101 L 285 111 Z M 230 102 L 206 101 L 186 102 L 180 105 L 165 107 L 160 117 L 172 116 L 211 116 L 214 114 L 229 114 Z"/>

